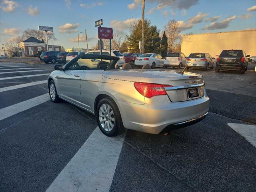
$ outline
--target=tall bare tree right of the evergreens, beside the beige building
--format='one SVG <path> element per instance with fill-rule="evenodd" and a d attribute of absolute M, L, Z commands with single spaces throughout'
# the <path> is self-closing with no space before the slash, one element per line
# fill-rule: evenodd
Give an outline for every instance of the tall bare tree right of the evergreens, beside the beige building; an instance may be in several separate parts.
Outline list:
<path fill-rule="evenodd" d="M 173 19 L 168 21 L 164 26 L 164 30 L 168 38 L 168 51 L 172 51 L 176 46 L 177 40 L 180 38 L 181 29 L 179 28 L 178 22 Z"/>

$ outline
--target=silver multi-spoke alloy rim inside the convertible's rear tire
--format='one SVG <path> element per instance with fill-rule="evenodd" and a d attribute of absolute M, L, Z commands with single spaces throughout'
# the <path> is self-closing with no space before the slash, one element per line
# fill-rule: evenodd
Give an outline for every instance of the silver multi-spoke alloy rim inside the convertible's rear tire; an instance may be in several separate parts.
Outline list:
<path fill-rule="evenodd" d="M 115 116 L 114 111 L 110 105 L 104 103 L 100 106 L 99 110 L 100 125 L 105 131 L 111 131 L 114 128 Z"/>

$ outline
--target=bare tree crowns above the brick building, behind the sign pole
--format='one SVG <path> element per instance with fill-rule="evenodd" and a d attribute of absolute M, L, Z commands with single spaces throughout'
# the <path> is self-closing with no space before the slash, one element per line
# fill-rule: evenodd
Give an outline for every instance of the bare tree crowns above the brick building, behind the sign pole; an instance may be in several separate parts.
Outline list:
<path fill-rule="evenodd" d="M 45 32 L 43 32 L 43 31 L 39 31 L 39 30 L 36 30 L 36 29 L 26 29 L 26 30 L 24 30 L 24 32 L 22 34 L 22 39 L 26 40 L 30 37 L 37 38 L 40 41 L 43 39 L 44 42 L 46 42 L 46 35 L 45 35 Z M 55 35 L 54 35 L 53 32 L 47 32 L 47 38 L 48 38 L 48 41 L 56 40 Z"/>

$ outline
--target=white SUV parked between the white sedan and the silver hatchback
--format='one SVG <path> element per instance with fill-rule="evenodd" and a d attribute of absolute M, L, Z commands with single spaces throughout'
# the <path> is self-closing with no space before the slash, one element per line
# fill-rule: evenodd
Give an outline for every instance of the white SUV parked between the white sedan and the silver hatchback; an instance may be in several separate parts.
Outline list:
<path fill-rule="evenodd" d="M 164 68 L 167 67 L 178 67 L 179 69 L 186 64 L 186 57 L 184 53 L 179 52 L 170 52 L 167 53 L 165 61 L 164 61 Z"/>

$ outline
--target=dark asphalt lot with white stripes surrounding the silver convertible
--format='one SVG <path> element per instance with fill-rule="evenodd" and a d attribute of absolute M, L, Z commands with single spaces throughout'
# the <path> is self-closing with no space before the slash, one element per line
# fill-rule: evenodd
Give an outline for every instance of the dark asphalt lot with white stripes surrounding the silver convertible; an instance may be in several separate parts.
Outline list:
<path fill-rule="evenodd" d="M 0 191 L 255 191 L 254 67 L 189 70 L 210 97 L 197 124 L 108 138 L 92 114 L 50 101 L 54 64 L 0 62 Z"/>

